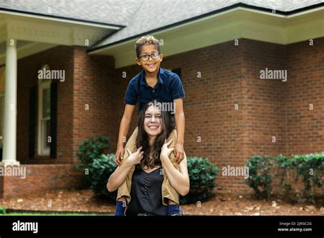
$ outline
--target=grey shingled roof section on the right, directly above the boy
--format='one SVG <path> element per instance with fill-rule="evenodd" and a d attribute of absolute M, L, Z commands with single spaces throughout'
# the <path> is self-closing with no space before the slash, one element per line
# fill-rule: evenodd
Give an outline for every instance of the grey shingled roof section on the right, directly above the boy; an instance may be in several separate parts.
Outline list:
<path fill-rule="evenodd" d="M 251 8 L 276 14 L 293 14 L 318 7 L 324 0 L 163 0 L 143 1 L 129 25 L 97 42 L 89 51 L 109 47 L 144 34 L 193 21 L 232 8 Z"/>

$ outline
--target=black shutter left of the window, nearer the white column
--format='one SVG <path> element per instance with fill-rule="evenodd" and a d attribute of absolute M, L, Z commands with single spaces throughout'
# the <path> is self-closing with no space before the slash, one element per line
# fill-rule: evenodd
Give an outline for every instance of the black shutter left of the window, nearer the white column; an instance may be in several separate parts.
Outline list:
<path fill-rule="evenodd" d="M 29 159 L 35 156 L 36 86 L 29 88 Z"/>

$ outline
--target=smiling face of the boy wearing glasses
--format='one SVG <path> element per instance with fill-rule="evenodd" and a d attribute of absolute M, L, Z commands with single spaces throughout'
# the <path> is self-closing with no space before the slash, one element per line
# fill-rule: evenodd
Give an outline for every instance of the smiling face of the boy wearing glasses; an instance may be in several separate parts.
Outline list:
<path fill-rule="evenodd" d="M 152 53 L 159 53 L 157 51 L 157 47 L 154 44 L 144 44 L 141 46 L 141 53 L 139 54 L 139 58 L 136 58 L 136 63 L 141 66 L 146 72 L 156 72 L 159 70 L 159 66 L 162 62 L 163 55 L 159 55 L 157 59 L 152 59 L 149 57 L 147 61 L 143 61 L 141 56 L 143 55 L 151 55 Z"/>

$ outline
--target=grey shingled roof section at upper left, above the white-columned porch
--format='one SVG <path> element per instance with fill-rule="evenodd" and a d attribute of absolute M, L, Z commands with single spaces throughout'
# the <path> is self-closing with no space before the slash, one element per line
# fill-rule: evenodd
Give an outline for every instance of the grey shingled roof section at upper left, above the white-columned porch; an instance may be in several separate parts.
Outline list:
<path fill-rule="evenodd" d="M 126 26 L 141 1 L 143 0 L 0 0 L 0 10 Z"/>

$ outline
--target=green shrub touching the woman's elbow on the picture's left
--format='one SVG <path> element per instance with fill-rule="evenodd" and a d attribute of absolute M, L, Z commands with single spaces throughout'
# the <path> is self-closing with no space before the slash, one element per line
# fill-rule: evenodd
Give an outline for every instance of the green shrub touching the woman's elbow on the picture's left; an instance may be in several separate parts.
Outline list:
<path fill-rule="evenodd" d="M 96 196 L 106 196 L 111 201 L 116 201 L 117 190 L 109 192 L 107 181 L 109 176 L 116 170 L 115 155 L 100 155 L 89 165 L 91 189 Z"/>

